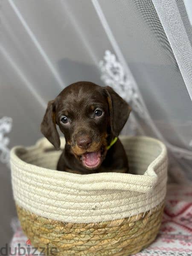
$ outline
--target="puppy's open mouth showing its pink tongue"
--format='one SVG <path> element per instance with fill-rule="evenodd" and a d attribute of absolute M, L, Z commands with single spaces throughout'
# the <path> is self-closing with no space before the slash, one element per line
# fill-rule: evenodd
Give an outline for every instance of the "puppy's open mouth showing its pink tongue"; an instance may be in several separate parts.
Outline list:
<path fill-rule="evenodd" d="M 85 152 L 81 155 L 82 164 L 88 169 L 95 169 L 101 164 L 101 151 Z"/>

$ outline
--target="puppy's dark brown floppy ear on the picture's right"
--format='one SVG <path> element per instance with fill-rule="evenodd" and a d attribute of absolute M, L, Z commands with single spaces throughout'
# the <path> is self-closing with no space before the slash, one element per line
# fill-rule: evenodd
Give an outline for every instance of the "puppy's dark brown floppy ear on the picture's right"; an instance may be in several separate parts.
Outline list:
<path fill-rule="evenodd" d="M 117 137 L 129 117 L 131 107 L 110 86 L 105 87 L 105 92 L 109 105 L 111 130 Z"/>

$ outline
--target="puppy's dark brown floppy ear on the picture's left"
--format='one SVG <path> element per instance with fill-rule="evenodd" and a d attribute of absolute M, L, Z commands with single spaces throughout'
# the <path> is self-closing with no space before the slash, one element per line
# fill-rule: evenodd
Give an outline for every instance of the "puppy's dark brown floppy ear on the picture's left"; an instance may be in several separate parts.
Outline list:
<path fill-rule="evenodd" d="M 60 138 L 56 128 L 54 100 L 48 102 L 47 110 L 41 123 L 41 132 L 57 150 L 60 149 Z"/>

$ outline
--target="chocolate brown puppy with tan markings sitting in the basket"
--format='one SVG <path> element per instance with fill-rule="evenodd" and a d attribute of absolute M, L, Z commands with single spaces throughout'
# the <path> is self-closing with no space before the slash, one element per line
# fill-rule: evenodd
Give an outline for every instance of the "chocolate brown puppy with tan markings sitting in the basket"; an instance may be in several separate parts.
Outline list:
<path fill-rule="evenodd" d="M 128 172 L 128 160 L 117 139 L 131 108 L 111 87 L 81 81 L 64 88 L 49 101 L 41 132 L 60 148 L 56 124 L 66 144 L 59 171 L 79 174 Z"/>

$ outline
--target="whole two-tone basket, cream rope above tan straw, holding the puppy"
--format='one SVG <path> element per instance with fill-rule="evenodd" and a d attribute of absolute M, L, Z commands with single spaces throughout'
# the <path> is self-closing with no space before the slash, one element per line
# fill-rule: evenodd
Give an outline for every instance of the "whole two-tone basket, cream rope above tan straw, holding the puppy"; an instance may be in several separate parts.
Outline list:
<path fill-rule="evenodd" d="M 47 255 L 127 256 L 156 238 L 166 195 L 166 147 L 149 137 L 120 139 L 137 175 L 58 172 L 61 151 L 46 139 L 12 149 L 17 214 L 33 246 Z"/>

